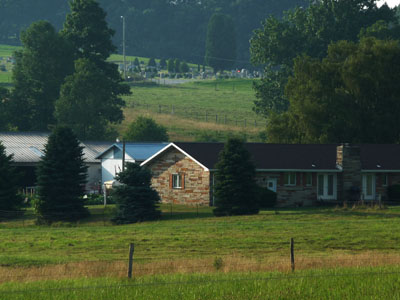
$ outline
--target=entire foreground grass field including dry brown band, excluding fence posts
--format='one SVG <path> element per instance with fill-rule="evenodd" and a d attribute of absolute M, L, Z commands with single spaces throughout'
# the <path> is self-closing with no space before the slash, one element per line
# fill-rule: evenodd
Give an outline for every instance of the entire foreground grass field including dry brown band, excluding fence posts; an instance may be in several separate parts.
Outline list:
<path fill-rule="evenodd" d="M 123 226 L 112 207 L 90 209 L 79 224 L 37 226 L 30 211 L 0 223 L 0 299 L 400 298 L 398 207 L 215 218 L 163 205 L 161 221 Z"/>

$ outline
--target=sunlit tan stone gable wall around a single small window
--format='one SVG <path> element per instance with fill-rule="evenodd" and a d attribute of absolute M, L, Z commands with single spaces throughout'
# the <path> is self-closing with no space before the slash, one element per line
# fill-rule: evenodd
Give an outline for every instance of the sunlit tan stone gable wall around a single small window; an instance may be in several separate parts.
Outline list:
<path fill-rule="evenodd" d="M 153 173 L 152 186 L 163 203 L 210 205 L 210 172 L 175 148 L 161 154 L 148 167 Z M 171 174 L 182 174 L 181 189 L 170 185 Z"/>

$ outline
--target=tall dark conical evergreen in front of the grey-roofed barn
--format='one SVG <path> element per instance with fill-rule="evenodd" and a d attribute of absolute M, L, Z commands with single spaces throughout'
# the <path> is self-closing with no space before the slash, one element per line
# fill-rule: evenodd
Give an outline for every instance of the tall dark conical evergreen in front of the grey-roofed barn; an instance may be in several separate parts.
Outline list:
<path fill-rule="evenodd" d="M 49 136 L 37 170 L 40 223 L 76 221 L 88 215 L 84 207 L 87 167 L 83 147 L 71 129 L 59 127 Z"/>

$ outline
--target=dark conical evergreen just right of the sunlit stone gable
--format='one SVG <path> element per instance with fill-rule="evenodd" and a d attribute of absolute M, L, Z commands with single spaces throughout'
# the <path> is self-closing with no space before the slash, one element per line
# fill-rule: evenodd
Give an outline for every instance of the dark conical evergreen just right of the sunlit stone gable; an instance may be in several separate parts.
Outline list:
<path fill-rule="evenodd" d="M 215 173 L 216 216 L 257 214 L 255 167 L 239 139 L 229 139 L 219 154 Z"/>

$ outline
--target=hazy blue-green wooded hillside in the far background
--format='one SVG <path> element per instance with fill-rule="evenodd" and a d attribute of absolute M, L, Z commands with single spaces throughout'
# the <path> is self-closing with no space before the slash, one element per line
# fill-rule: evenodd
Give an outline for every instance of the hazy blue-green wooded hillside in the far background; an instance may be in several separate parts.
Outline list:
<path fill-rule="evenodd" d="M 248 61 L 252 31 L 268 15 L 307 5 L 307 0 L 100 0 L 113 42 L 122 52 L 122 22 L 126 20 L 126 49 L 130 55 L 204 62 L 207 24 L 216 13 L 230 15 L 236 27 L 238 60 Z M 68 13 L 67 0 L 0 0 L 0 43 L 19 44 L 21 30 L 47 20 L 57 30 Z"/>

